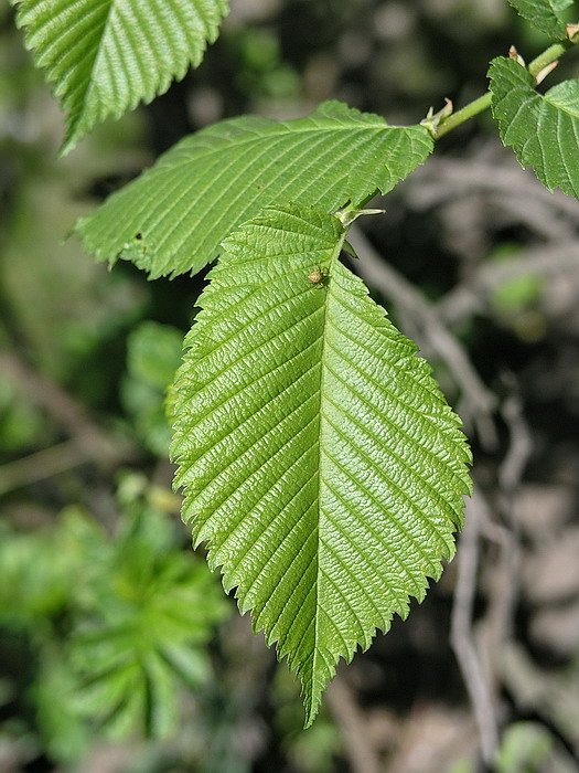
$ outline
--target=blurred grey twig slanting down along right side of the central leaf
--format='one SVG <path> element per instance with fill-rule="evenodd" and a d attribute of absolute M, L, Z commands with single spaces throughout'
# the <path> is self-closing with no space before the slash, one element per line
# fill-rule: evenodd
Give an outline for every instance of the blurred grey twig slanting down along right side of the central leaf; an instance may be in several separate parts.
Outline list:
<path fill-rule="evenodd" d="M 461 389 L 463 419 L 476 426 L 485 448 L 494 448 L 496 433 L 492 414 L 496 399 L 474 370 L 464 348 L 442 324 L 433 306 L 410 282 L 383 261 L 358 227 L 352 226 L 349 239 L 361 257 L 360 273 L 404 309 L 419 330 L 416 337 L 422 337 L 444 360 Z"/>

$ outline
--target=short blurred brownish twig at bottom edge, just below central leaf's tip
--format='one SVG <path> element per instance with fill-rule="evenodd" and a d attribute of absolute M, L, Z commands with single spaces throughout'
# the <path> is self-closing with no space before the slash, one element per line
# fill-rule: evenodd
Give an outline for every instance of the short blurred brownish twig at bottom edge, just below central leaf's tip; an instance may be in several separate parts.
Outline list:
<path fill-rule="evenodd" d="M 373 746 L 366 723 L 354 697 L 339 676 L 328 688 L 328 701 L 344 735 L 344 744 L 353 773 L 380 773 L 380 761 Z"/>

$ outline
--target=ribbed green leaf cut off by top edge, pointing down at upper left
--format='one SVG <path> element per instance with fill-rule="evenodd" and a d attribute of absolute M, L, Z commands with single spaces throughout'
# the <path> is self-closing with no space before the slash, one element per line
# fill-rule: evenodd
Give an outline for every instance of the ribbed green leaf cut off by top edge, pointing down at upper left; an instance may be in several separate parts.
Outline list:
<path fill-rule="evenodd" d="M 203 59 L 227 0 L 11 0 L 26 47 L 68 110 L 61 152 L 163 94 Z"/>

